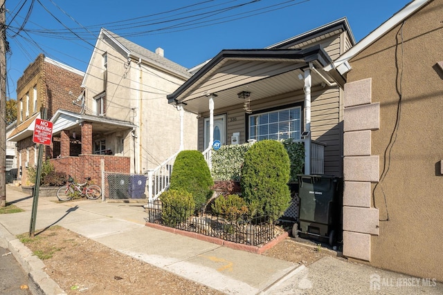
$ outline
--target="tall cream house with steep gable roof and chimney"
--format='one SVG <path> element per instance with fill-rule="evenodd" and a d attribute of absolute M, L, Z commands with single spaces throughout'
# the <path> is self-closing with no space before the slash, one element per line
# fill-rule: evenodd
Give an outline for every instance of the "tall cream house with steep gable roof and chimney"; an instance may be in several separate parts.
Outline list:
<path fill-rule="evenodd" d="M 82 124 L 90 124 L 91 154 L 130 158 L 127 171 L 107 170 L 114 172 L 147 173 L 181 149 L 197 149 L 197 115 L 165 99 L 191 74 L 163 55 L 161 48 L 153 53 L 102 28 L 82 81 L 84 95 L 74 100 L 82 111 L 59 112 L 55 129 L 78 136 Z"/>

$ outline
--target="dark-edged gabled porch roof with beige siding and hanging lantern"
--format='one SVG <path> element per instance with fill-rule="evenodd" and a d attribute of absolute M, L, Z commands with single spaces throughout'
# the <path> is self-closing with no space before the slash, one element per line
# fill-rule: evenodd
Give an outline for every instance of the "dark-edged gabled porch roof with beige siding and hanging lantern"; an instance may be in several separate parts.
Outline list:
<path fill-rule="evenodd" d="M 320 46 L 304 49 L 221 50 L 187 82 L 168 95 L 170 104 L 182 104 L 187 111 L 208 111 L 209 95 L 217 95 L 215 105 L 224 108 L 243 104 L 237 93 L 248 91 L 251 101 L 301 91 L 299 75 L 311 67 L 312 85 L 344 85 L 341 75 L 323 68 L 332 59 Z M 334 73 L 336 74 L 336 73 Z"/>

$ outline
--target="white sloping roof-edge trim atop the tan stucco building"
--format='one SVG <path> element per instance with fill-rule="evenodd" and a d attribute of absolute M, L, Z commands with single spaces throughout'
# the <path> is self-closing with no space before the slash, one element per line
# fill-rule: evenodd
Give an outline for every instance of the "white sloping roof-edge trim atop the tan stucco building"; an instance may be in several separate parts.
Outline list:
<path fill-rule="evenodd" d="M 349 60 L 352 59 L 352 57 L 359 54 L 362 50 L 373 44 L 375 41 L 377 41 L 380 37 L 386 34 L 386 32 L 389 32 L 392 30 L 392 28 L 395 28 L 401 21 L 404 21 L 404 19 L 410 17 L 410 15 L 413 15 L 417 10 L 425 6 L 427 3 L 431 2 L 433 0 L 414 0 L 406 4 L 404 8 L 399 10 L 395 13 L 395 15 L 392 15 L 390 19 L 385 21 L 381 24 L 377 29 L 370 32 L 370 34 L 359 43 L 357 43 L 354 47 L 350 48 L 350 50 L 347 50 L 346 53 L 338 57 L 332 64 L 328 65 L 324 69 L 329 71 L 332 70 L 332 68 L 336 68 L 341 75 L 347 73 L 351 66 L 349 64 Z"/>

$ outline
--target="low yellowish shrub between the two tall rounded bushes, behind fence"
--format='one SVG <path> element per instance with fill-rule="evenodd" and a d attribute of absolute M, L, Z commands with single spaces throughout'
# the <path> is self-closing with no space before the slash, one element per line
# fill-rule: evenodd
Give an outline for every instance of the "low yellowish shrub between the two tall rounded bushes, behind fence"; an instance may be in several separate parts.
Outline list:
<path fill-rule="evenodd" d="M 236 220 L 249 211 L 246 202 L 237 195 L 219 196 L 211 208 L 214 213 L 226 216 L 228 220 Z"/>

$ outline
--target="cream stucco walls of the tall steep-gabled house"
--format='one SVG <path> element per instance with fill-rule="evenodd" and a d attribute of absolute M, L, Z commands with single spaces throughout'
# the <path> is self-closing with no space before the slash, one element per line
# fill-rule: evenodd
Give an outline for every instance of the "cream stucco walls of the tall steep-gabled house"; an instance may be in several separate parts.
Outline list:
<path fill-rule="evenodd" d="M 94 97 L 106 90 L 106 117 L 136 125 L 135 141 L 130 131 L 102 135 L 106 138 L 107 148 L 109 144 L 116 149 L 122 139 L 123 151 L 116 151 L 132 158 L 132 172 L 145 173 L 179 151 L 180 112 L 168 104 L 166 95 L 174 92 L 186 79 L 150 64 L 138 64 L 138 60 L 128 62 L 127 54 L 116 50 L 107 41 L 99 41 L 96 47 L 84 82 L 87 113 L 93 114 Z M 102 70 L 102 54 L 105 52 L 106 83 Z M 183 119 L 184 148 L 197 149 L 197 115 L 185 112 Z"/>

